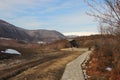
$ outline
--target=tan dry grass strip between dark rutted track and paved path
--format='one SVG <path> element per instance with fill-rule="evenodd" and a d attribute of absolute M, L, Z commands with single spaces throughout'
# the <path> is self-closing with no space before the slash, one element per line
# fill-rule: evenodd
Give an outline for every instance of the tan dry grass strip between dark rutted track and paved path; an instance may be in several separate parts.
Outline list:
<path fill-rule="evenodd" d="M 31 67 L 8 80 L 60 80 L 66 64 L 85 52 L 85 50 L 79 50 L 80 51 L 62 50 L 61 53 L 64 54 L 62 57 L 57 57 Z"/>

